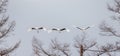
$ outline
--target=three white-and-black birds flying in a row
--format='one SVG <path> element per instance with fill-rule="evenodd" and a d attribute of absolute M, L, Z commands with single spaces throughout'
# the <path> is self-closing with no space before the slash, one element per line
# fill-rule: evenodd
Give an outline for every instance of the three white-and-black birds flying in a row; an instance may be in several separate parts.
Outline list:
<path fill-rule="evenodd" d="M 85 30 L 87 30 L 87 29 L 89 29 L 91 27 L 93 27 L 93 26 L 88 26 L 86 28 L 81 28 L 81 27 L 75 27 L 75 28 L 77 28 L 77 29 L 79 29 L 81 31 L 85 31 Z M 70 32 L 70 29 L 67 29 L 67 28 L 47 29 L 45 27 L 31 27 L 31 28 L 28 29 L 28 31 L 34 31 L 34 30 L 37 31 L 38 33 L 39 33 L 39 30 L 47 31 L 48 33 L 53 32 L 53 31 L 57 31 L 57 32 L 63 32 L 63 31 Z"/>

